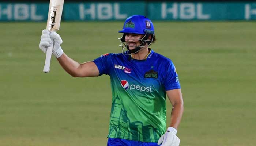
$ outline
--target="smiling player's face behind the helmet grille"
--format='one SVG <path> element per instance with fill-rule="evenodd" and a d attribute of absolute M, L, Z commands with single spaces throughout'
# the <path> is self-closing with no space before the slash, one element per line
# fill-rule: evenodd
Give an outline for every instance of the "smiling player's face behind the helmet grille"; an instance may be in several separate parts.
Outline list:
<path fill-rule="evenodd" d="M 140 46 L 141 39 L 144 35 L 142 34 L 125 34 L 125 42 L 127 42 L 127 45 L 129 49 L 135 49 L 137 46 Z"/>

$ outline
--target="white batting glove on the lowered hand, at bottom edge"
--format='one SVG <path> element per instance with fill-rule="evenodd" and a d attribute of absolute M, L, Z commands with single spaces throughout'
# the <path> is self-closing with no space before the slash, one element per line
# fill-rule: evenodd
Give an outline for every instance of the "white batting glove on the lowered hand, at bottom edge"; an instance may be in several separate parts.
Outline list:
<path fill-rule="evenodd" d="M 163 134 L 159 140 L 158 145 L 161 146 L 178 146 L 180 145 L 180 139 L 176 136 L 177 130 L 173 127 L 168 127 L 167 132 Z"/>

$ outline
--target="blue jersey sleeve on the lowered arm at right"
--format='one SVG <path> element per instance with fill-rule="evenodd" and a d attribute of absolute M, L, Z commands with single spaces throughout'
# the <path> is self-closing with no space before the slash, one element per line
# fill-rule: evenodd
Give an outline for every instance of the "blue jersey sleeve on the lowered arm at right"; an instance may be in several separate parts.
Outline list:
<path fill-rule="evenodd" d="M 178 74 L 172 61 L 167 66 L 167 73 L 165 76 L 164 86 L 165 90 L 181 89 Z"/>

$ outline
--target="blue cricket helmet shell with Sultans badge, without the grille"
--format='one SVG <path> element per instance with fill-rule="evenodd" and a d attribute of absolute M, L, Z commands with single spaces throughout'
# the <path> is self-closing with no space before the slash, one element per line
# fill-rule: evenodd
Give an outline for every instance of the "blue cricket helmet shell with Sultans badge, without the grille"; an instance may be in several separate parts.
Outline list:
<path fill-rule="evenodd" d="M 155 34 L 153 23 L 150 19 L 142 15 L 132 15 L 128 17 L 123 29 L 119 33 L 133 33 L 133 34 Z"/>

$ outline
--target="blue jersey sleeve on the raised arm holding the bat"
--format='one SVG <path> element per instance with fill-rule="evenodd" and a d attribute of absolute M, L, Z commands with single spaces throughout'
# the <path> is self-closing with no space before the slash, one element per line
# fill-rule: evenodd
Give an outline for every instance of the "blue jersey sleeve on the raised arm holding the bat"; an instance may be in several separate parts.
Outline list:
<path fill-rule="evenodd" d="M 111 54 L 105 54 L 101 55 L 101 57 L 98 57 L 97 59 L 94 59 L 94 63 L 96 64 L 98 70 L 99 70 L 99 76 L 102 74 L 109 74 L 109 64 L 111 61 Z"/>

